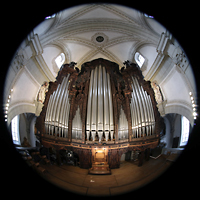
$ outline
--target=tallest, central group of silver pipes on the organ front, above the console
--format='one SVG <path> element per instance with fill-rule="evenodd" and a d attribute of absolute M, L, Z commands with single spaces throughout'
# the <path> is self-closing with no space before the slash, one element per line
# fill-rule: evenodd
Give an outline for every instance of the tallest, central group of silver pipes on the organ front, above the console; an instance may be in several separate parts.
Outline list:
<path fill-rule="evenodd" d="M 96 133 L 99 141 L 105 133 L 106 141 L 113 139 L 113 104 L 110 85 L 110 76 L 102 65 L 98 65 L 91 71 L 88 92 L 87 118 L 86 118 L 87 140 L 95 140 Z"/>

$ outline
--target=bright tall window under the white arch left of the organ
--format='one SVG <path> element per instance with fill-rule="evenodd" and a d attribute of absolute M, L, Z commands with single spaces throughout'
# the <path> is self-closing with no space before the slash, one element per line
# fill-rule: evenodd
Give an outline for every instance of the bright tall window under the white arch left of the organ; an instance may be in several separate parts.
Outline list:
<path fill-rule="evenodd" d="M 20 144 L 19 138 L 19 115 L 16 115 L 11 121 L 12 139 L 14 144 Z"/>

